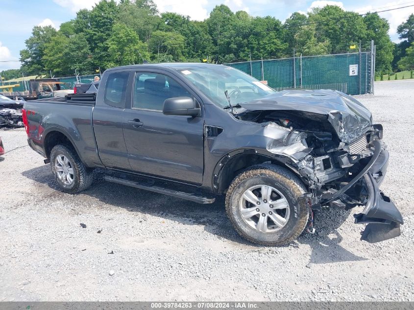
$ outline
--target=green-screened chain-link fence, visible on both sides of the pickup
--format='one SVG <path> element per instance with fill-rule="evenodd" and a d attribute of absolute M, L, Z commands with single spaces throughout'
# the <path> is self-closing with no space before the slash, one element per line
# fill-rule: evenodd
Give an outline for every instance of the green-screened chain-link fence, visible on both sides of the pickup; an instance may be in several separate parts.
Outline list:
<path fill-rule="evenodd" d="M 268 86 L 280 91 L 289 88 L 334 89 L 349 95 L 373 94 L 375 75 L 375 46 L 371 41 L 357 49 L 330 55 L 302 56 L 293 51 L 295 57 L 244 61 L 224 64 L 246 72 L 258 80 L 267 81 Z M 63 89 L 73 89 L 75 83 L 91 83 L 96 75 L 79 75 L 76 72 L 58 73 L 56 76 L 26 76 L 2 81 L 0 92 L 7 92 L 7 85 L 13 86 L 12 92 L 29 91 L 28 80 L 35 78 L 58 78 Z"/>

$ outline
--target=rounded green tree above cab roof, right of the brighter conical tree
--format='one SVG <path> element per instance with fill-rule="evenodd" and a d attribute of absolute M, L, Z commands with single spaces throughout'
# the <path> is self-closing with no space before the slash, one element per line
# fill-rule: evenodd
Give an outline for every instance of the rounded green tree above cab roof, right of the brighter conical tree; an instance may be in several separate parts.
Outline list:
<path fill-rule="evenodd" d="M 156 62 L 183 61 L 184 37 L 176 32 L 154 31 L 149 39 L 149 49 Z"/>

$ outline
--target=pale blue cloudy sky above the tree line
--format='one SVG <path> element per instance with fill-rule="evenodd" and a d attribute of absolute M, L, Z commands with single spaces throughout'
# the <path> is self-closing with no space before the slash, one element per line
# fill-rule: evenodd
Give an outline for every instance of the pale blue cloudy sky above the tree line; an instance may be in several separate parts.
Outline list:
<path fill-rule="evenodd" d="M 19 51 L 35 25 L 59 25 L 76 16 L 82 8 L 92 8 L 99 0 L 0 0 L 0 71 L 20 67 Z M 224 3 L 234 12 L 244 10 L 252 16 L 274 16 L 285 21 L 293 12 L 306 13 L 313 7 L 338 5 L 360 14 L 413 5 L 414 0 L 154 0 L 160 12 L 189 15 L 202 21 L 218 4 Z M 380 13 L 390 22 L 390 37 L 399 42 L 396 28 L 414 13 L 414 6 Z"/>

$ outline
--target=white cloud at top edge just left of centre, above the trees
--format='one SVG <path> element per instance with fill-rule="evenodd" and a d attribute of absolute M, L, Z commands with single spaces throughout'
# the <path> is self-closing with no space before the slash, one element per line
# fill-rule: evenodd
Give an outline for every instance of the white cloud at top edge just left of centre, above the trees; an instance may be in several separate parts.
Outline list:
<path fill-rule="evenodd" d="M 203 21 L 208 17 L 207 0 L 154 0 L 160 12 L 188 15 L 192 20 Z"/>

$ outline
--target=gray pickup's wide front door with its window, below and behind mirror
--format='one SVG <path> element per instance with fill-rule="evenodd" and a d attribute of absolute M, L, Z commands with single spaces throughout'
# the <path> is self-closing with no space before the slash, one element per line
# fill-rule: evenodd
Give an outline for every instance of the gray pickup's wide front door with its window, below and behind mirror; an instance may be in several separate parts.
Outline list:
<path fill-rule="evenodd" d="M 132 169 L 154 176 L 201 184 L 203 118 L 162 113 L 164 100 L 193 97 L 170 75 L 135 72 L 131 106 L 123 114 L 123 136 Z"/>

